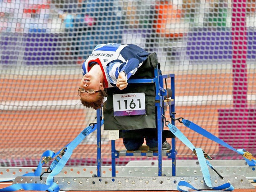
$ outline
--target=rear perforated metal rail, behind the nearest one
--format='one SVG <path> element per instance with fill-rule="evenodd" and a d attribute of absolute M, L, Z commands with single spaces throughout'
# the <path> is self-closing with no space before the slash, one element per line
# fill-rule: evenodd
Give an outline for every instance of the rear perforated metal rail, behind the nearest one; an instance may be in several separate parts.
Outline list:
<path fill-rule="evenodd" d="M 163 161 L 163 174 L 172 176 L 172 161 Z M 213 160 L 211 164 L 222 175 L 237 176 L 244 175 L 247 179 L 256 179 L 255 167 L 246 165 L 244 160 Z M 42 171 L 47 167 L 43 167 Z M 16 176 L 24 175 L 28 172 L 33 172 L 36 167 L 0 167 L 0 182 L 13 180 Z M 112 176 L 111 166 L 101 167 L 102 176 Z M 217 174 L 209 169 L 210 175 Z M 116 166 L 116 177 L 142 177 L 142 176 L 158 176 L 157 160 L 130 161 L 126 166 Z M 178 176 L 195 176 L 202 175 L 200 166 L 197 160 L 177 160 L 176 173 Z M 64 167 L 58 174 L 61 177 L 91 177 L 97 175 L 97 166 L 76 166 Z"/>

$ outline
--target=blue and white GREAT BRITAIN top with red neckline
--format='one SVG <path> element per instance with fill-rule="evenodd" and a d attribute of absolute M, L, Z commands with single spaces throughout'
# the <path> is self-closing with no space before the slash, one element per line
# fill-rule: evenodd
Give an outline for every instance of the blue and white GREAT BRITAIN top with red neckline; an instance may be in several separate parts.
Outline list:
<path fill-rule="evenodd" d="M 99 64 L 104 76 L 104 88 L 115 87 L 119 73 L 126 74 L 126 79 L 137 71 L 148 52 L 133 44 L 108 43 L 97 45 L 91 55 L 83 62 L 83 75 L 88 73 L 92 64 Z"/>

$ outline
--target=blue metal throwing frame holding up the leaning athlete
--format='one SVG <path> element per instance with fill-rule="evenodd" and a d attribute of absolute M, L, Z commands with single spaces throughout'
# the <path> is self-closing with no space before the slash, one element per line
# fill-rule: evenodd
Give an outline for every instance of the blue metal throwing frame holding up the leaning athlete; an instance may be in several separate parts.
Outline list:
<path fill-rule="evenodd" d="M 156 97 L 155 106 L 157 107 L 157 138 L 158 138 L 158 152 L 153 153 L 153 156 L 158 157 L 158 176 L 162 176 L 162 114 L 164 112 L 164 106 L 169 105 L 169 113 L 171 116 L 172 112 L 175 112 L 175 75 L 164 74 L 160 75 L 158 67 L 154 69 L 155 77 L 153 79 L 129 79 L 128 83 L 155 83 Z M 164 101 L 164 96 L 167 94 L 164 90 L 164 80 L 170 78 L 173 100 Z M 168 95 L 170 96 L 170 95 Z M 101 128 L 100 121 L 102 119 L 102 108 L 97 110 L 97 176 L 101 177 Z M 175 118 L 174 114 L 172 117 Z M 175 121 L 172 119 L 171 123 L 175 125 Z M 168 159 L 172 159 L 172 175 L 176 176 L 176 141 L 175 137 L 172 138 L 172 149 L 166 153 Z M 134 156 L 134 153 L 126 153 L 126 156 Z M 146 156 L 146 153 L 141 153 L 140 156 Z M 119 158 L 119 152 L 115 149 L 115 140 L 111 140 L 111 166 L 112 166 L 112 177 L 115 177 L 115 159 Z"/>

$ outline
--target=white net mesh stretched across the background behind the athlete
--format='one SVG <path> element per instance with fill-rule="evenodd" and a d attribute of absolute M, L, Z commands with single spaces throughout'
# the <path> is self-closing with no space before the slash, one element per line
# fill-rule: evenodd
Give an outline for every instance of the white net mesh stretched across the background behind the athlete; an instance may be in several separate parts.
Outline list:
<path fill-rule="evenodd" d="M 156 52 L 175 74 L 177 116 L 255 155 L 255 1 L 0 0 L 0 166 L 36 166 L 72 141 L 96 111 L 77 94 L 81 64 L 97 44 Z M 216 159 L 236 153 L 177 127 Z M 111 162 L 102 130 L 102 163 Z M 67 165 L 96 165 L 96 133 Z M 167 139 L 167 141 L 170 141 Z M 117 149 L 124 149 L 122 139 Z M 195 158 L 177 139 L 179 159 Z M 152 157 L 122 157 L 117 164 Z"/>

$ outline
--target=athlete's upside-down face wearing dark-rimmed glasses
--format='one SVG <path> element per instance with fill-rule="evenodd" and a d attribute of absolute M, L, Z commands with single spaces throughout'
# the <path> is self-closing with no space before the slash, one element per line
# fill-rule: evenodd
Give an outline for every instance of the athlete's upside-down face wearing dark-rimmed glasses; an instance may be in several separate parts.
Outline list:
<path fill-rule="evenodd" d="M 80 81 L 80 88 L 84 88 L 86 91 L 88 89 L 93 89 L 94 91 L 99 91 L 103 90 L 103 83 L 100 82 L 100 79 L 92 74 L 85 74 L 81 81 Z M 95 101 L 97 99 L 97 95 L 99 93 L 88 93 L 88 92 L 83 92 L 80 93 L 80 97 L 84 101 Z"/>

